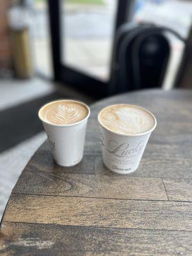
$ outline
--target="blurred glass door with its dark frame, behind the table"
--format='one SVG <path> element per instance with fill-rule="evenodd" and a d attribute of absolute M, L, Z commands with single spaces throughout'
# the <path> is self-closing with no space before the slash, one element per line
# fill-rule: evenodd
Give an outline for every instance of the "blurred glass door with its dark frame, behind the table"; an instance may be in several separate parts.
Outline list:
<path fill-rule="evenodd" d="M 55 79 L 95 98 L 108 95 L 115 32 L 133 1 L 48 2 Z"/>

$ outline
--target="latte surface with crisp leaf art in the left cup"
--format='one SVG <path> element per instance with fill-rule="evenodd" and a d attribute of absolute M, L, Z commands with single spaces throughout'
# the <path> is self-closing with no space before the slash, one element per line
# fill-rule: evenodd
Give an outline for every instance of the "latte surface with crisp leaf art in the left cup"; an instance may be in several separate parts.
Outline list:
<path fill-rule="evenodd" d="M 43 106 L 39 116 L 45 122 L 56 125 L 69 125 L 80 122 L 88 116 L 86 105 L 76 100 L 56 100 Z"/>

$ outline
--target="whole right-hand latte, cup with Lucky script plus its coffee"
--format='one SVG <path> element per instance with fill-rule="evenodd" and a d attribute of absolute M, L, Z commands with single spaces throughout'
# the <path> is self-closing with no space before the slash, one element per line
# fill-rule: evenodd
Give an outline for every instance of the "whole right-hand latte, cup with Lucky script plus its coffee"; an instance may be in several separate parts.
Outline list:
<path fill-rule="evenodd" d="M 102 109 L 98 120 L 106 167 L 116 173 L 134 172 L 156 128 L 155 116 L 139 106 L 116 104 Z"/>

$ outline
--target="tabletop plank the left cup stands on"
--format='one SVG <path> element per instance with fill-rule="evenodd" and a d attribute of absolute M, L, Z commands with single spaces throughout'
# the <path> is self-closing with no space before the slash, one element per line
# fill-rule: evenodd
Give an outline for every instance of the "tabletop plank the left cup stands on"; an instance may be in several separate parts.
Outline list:
<path fill-rule="evenodd" d="M 76 166 L 63 167 L 54 163 L 51 150 L 40 150 L 31 158 L 24 171 L 51 173 L 94 173 L 94 156 L 84 156 Z"/>

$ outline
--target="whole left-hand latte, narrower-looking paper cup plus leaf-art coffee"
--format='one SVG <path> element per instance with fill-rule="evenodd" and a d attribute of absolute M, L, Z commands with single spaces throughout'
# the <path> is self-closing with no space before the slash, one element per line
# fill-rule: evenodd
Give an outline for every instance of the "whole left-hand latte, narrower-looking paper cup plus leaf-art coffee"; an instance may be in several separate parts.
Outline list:
<path fill-rule="evenodd" d="M 43 106 L 38 116 L 55 163 L 60 166 L 78 164 L 83 158 L 89 107 L 76 100 L 56 100 Z"/>

